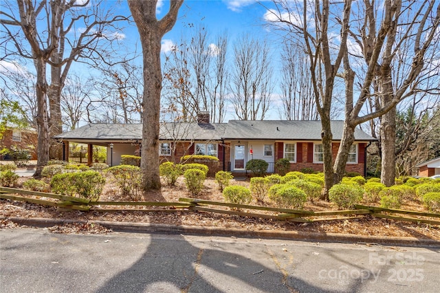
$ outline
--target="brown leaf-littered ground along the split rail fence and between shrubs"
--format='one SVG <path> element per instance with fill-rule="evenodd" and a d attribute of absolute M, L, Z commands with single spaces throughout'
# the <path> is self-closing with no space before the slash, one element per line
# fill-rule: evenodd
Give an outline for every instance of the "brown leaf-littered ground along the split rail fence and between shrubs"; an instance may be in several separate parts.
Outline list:
<path fill-rule="evenodd" d="M 19 184 L 27 180 L 21 177 Z M 109 180 L 108 180 L 109 181 Z M 232 180 L 231 184 L 249 186 L 248 180 Z M 223 202 L 223 195 L 219 191 L 217 182 L 212 179 L 206 180 L 203 191 L 197 195 L 198 199 L 208 199 Z M 179 177 L 175 186 L 163 186 L 161 191 L 144 193 L 143 201 L 146 202 L 179 202 L 180 197 L 195 198 L 186 190 L 184 180 Z M 120 191 L 113 182 L 108 182 L 100 197 L 100 201 L 126 201 L 128 199 L 120 195 Z M 256 201 L 252 205 L 262 205 Z M 271 206 L 265 202 L 264 206 Z M 112 206 L 114 208 L 114 206 Z M 151 209 L 151 207 L 148 207 Z M 164 209 L 164 207 L 161 207 Z M 173 209 L 165 207 L 167 209 Z M 212 208 L 221 208 L 212 206 Z M 224 207 L 223 207 L 224 208 Z M 318 201 L 314 204 L 307 203 L 305 210 L 336 210 L 336 206 L 329 202 Z M 405 202 L 402 209 L 421 210 L 420 202 Z M 252 213 L 262 213 L 255 212 Z M 78 220 L 102 220 L 102 221 L 124 221 L 140 222 L 151 224 L 190 225 L 235 228 L 243 230 L 283 230 L 283 231 L 304 231 L 304 232 L 330 232 L 351 235 L 374 235 L 388 237 L 415 237 L 417 239 L 440 240 L 440 226 L 428 224 L 416 224 L 408 221 L 394 221 L 390 219 L 379 219 L 371 216 L 358 216 L 352 219 L 333 219 L 331 221 L 314 221 L 313 223 L 296 223 L 292 221 L 277 221 L 273 219 L 261 219 L 241 217 L 236 215 L 214 214 L 190 210 L 173 210 L 173 213 L 166 211 L 124 211 L 101 213 L 96 211 L 83 212 L 78 210 L 61 210 L 50 206 L 40 206 L 24 202 L 0 199 L 0 217 L 45 217 L 57 219 L 78 219 Z M 333 216 L 332 218 L 335 218 Z M 344 216 L 341 216 L 344 218 Z M 414 216 L 411 216 L 414 217 Z M 438 219 L 437 219 L 438 220 Z M 15 228 L 17 224 L 8 219 L 0 221 L 0 228 Z M 55 232 L 108 232 L 105 228 L 98 228 L 90 225 L 76 225 L 69 227 L 54 227 Z"/>

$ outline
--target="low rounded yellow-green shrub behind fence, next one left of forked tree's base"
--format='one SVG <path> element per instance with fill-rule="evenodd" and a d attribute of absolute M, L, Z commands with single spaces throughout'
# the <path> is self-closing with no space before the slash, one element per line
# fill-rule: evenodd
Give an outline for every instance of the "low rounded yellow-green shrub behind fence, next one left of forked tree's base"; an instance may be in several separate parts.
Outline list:
<path fill-rule="evenodd" d="M 286 184 L 276 187 L 275 192 L 270 193 L 269 198 L 281 208 L 303 208 L 307 201 L 304 191 Z"/>

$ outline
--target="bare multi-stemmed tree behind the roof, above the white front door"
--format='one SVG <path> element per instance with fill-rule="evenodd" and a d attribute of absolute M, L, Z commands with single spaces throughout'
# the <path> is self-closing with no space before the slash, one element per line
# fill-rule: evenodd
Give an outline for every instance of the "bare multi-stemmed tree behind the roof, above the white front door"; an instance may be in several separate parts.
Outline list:
<path fill-rule="evenodd" d="M 240 120 L 263 120 L 272 94 L 272 66 L 266 41 L 243 36 L 234 45 L 232 98 Z"/>

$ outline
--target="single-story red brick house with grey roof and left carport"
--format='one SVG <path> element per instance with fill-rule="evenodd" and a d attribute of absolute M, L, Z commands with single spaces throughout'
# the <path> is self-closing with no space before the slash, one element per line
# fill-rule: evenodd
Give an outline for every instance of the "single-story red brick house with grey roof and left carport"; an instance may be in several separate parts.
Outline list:
<path fill-rule="evenodd" d="M 342 138 L 343 121 L 332 121 L 333 157 Z M 276 160 L 289 159 L 292 171 L 314 169 L 322 171 L 322 141 L 320 121 L 230 120 L 210 123 L 209 113 L 198 115 L 197 122 L 166 122 L 160 125 L 159 155 L 161 161 L 180 162 L 189 154 L 214 155 L 219 158 L 219 170 L 245 172 L 246 163 L 262 159 L 274 172 Z M 69 142 L 107 146 L 107 163 L 120 164 L 121 155 L 140 155 L 142 124 L 87 124 L 57 135 L 68 152 Z M 365 175 L 366 147 L 375 138 L 360 129 L 355 130 L 347 172 Z M 65 151 L 65 152 L 66 152 Z M 68 154 L 65 153 L 65 158 Z M 89 155 L 91 158 L 91 155 Z M 89 164 L 91 160 L 89 159 Z"/>

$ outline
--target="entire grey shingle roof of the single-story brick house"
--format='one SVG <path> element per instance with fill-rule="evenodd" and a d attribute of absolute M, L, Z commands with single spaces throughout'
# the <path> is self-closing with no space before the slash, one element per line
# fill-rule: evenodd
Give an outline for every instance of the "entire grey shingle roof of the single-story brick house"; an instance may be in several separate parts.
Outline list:
<path fill-rule="evenodd" d="M 286 120 L 230 120 L 228 123 L 163 123 L 161 140 L 321 140 L 320 121 Z M 332 121 L 333 140 L 341 140 L 343 121 Z M 63 140 L 142 140 L 142 124 L 87 124 L 78 129 L 56 135 Z M 355 140 L 375 138 L 355 129 Z"/>

